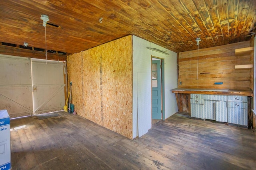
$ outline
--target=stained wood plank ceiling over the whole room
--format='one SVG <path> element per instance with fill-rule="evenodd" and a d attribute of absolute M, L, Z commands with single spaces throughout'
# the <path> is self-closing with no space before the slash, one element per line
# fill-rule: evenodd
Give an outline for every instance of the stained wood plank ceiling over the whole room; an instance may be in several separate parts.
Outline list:
<path fill-rule="evenodd" d="M 197 37 L 206 48 L 247 41 L 256 29 L 256 0 L 1 0 L 0 7 L 0 42 L 45 49 L 45 14 L 47 49 L 70 54 L 130 34 L 190 51 Z"/>

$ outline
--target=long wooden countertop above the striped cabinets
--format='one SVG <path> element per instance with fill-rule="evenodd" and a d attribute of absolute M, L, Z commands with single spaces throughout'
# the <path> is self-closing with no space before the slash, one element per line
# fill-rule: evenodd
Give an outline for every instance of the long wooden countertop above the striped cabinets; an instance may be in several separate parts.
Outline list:
<path fill-rule="evenodd" d="M 253 97 L 252 90 L 229 90 L 229 89 L 189 89 L 189 88 L 174 88 L 173 93 L 183 94 L 219 94 L 219 95 L 239 95 Z"/>

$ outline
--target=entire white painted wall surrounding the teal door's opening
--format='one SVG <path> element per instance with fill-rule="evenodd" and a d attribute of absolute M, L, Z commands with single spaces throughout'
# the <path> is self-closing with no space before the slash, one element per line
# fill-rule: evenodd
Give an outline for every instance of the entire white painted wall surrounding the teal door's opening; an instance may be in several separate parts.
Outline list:
<path fill-rule="evenodd" d="M 170 55 L 146 47 L 157 48 Z M 144 135 L 152 127 L 151 55 L 164 59 L 165 117 L 178 111 L 175 95 L 170 91 L 178 87 L 177 54 L 133 35 L 133 138 Z"/>

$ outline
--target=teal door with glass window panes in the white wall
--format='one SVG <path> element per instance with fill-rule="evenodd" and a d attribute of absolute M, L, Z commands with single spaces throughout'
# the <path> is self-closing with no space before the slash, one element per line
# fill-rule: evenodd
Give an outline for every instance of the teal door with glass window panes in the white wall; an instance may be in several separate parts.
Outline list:
<path fill-rule="evenodd" d="M 162 119 L 160 62 L 152 61 L 152 119 Z"/>

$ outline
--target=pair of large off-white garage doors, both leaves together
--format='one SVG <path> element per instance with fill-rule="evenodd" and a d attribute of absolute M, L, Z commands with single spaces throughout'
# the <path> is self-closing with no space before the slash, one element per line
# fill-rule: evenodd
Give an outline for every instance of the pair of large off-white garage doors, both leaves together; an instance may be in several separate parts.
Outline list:
<path fill-rule="evenodd" d="M 11 118 L 62 110 L 63 63 L 0 55 L 0 109 Z"/>

